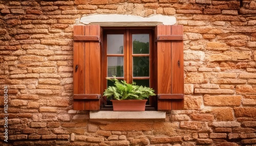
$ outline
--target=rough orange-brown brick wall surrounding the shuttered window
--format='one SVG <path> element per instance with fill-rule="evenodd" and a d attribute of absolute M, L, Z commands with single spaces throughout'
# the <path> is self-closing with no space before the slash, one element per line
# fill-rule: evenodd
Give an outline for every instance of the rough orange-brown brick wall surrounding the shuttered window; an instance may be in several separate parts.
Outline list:
<path fill-rule="evenodd" d="M 73 26 L 100 13 L 172 15 L 184 26 L 184 110 L 164 121 L 72 110 Z M 0 144 L 256 144 L 255 0 L 3 0 L 0 14 Z"/>

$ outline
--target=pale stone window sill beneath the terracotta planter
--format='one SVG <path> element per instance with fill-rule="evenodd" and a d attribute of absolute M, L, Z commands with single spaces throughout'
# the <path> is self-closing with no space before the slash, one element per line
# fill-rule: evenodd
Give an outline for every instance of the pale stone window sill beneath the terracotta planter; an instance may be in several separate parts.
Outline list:
<path fill-rule="evenodd" d="M 163 111 L 90 111 L 90 119 L 165 119 Z"/>

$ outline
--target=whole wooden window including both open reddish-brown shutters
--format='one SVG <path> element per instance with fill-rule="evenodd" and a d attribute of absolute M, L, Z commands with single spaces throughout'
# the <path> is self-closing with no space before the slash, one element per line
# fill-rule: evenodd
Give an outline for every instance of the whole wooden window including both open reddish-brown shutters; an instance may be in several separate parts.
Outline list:
<path fill-rule="evenodd" d="M 156 90 L 148 109 L 183 109 L 183 27 L 74 27 L 74 110 L 100 110 L 114 74 Z M 101 43 L 102 41 L 102 43 Z"/>

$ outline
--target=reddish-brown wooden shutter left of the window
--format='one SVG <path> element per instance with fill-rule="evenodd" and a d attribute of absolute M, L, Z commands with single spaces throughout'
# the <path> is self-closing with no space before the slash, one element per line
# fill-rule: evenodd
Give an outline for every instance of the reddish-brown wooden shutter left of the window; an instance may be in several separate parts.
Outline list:
<path fill-rule="evenodd" d="M 74 110 L 99 110 L 100 26 L 74 26 Z"/>

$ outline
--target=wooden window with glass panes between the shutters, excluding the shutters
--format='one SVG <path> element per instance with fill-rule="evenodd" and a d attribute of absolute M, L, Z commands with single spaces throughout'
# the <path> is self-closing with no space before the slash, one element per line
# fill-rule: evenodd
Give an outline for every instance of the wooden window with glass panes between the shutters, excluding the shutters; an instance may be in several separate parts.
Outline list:
<path fill-rule="evenodd" d="M 127 83 L 155 88 L 154 80 L 154 28 L 105 28 L 103 30 L 103 89 L 113 85 L 105 78 L 125 80 Z M 147 102 L 147 109 L 154 107 L 155 97 Z M 112 102 L 102 99 L 103 107 Z M 106 110 L 106 109 L 105 109 Z"/>

